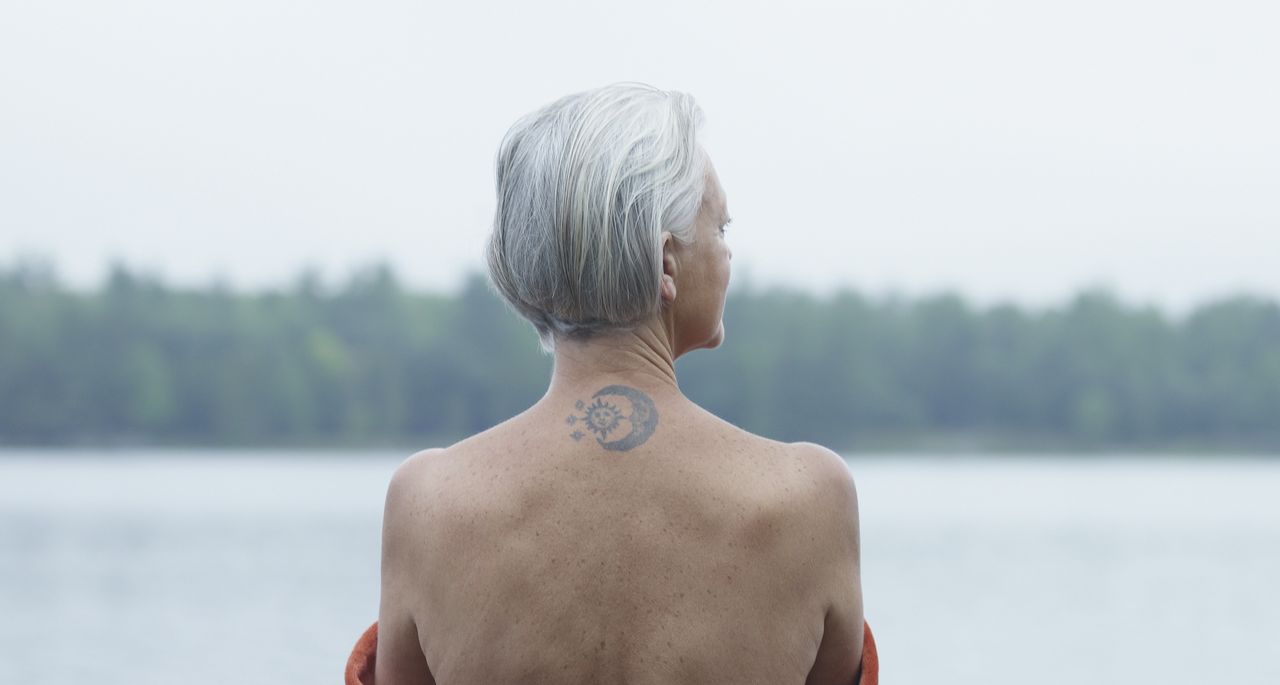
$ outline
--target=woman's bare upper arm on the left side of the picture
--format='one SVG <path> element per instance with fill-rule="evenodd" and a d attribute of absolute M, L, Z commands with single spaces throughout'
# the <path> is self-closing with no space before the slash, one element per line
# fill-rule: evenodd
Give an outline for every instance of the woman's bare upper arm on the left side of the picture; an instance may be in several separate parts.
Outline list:
<path fill-rule="evenodd" d="M 383 510 L 381 598 L 378 608 L 378 653 L 374 659 L 374 681 L 378 685 L 435 685 L 426 657 L 422 654 L 411 598 L 416 556 L 411 512 L 417 506 L 421 489 L 421 462 L 434 451 L 424 451 L 404 460 L 387 487 Z"/>

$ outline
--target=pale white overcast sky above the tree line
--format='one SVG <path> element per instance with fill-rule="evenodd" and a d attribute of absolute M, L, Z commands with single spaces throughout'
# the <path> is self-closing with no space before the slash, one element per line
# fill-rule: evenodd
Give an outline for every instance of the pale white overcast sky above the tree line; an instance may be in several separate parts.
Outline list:
<path fill-rule="evenodd" d="M 1280 298 L 1277 36 L 1243 0 L 6 3 L 0 261 L 449 289 L 507 127 L 644 81 L 707 114 L 739 284 Z"/>

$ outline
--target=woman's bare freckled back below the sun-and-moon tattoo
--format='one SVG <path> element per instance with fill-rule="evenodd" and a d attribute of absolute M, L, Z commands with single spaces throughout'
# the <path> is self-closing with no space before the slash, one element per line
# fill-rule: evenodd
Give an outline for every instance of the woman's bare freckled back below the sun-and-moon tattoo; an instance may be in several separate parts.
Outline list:
<path fill-rule="evenodd" d="M 801 684 L 820 647 L 858 663 L 844 463 L 659 394 L 644 439 L 640 419 L 591 424 L 589 396 L 544 401 L 397 474 L 411 572 L 384 602 L 436 682 Z"/>

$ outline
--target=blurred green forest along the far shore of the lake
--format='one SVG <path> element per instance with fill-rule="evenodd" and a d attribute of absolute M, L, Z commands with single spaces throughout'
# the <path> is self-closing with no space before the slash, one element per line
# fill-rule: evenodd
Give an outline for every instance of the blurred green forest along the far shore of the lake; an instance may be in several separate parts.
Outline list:
<path fill-rule="evenodd" d="M 681 389 L 835 449 L 1280 452 L 1280 305 L 1175 320 L 1085 288 L 1060 306 L 731 289 Z M 0 446 L 429 447 L 518 414 L 552 359 L 481 274 L 411 292 L 387 264 L 326 284 L 172 287 L 114 262 L 67 287 L 0 268 Z"/>

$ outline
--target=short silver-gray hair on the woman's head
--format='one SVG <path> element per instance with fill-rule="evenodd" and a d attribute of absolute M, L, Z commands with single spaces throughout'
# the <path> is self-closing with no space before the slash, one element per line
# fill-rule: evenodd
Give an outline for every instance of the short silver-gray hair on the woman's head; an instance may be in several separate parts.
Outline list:
<path fill-rule="evenodd" d="M 659 311 L 662 232 L 691 243 L 701 205 L 701 120 L 686 93 L 614 83 L 527 114 L 503 137 L 489 278 L 544 351 Z"/>

